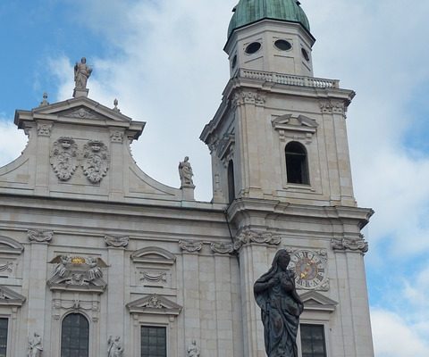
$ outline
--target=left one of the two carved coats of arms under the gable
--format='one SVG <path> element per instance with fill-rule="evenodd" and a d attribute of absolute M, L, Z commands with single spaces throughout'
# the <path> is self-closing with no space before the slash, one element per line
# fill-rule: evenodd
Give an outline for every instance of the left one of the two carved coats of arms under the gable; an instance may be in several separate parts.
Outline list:
<path fill-rule="evenodd" d="M 52 147 L 50 162 L 56 177 L 68 181 L 78 167 L 78 145 L 71 137 L 60 137 Z"/>

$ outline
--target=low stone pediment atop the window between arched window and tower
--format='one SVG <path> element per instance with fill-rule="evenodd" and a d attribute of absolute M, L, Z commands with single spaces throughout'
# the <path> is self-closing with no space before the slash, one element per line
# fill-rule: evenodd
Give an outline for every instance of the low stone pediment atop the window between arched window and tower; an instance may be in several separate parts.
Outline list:
<path fill-rule="evenodd" d="M 147 313 L 178 316 L 181 313 L 181 305 L 173 303 L 171 300 L 161 295 L 147 295 L 139 300 L 127 303 L 130 313 Z"/>

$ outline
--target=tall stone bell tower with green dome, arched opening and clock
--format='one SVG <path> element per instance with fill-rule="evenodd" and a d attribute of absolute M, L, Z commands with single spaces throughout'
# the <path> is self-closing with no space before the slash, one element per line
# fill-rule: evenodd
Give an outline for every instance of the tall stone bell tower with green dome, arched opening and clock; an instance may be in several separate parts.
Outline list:
<path fill-rule="evenodd" d="M 357 207 L 346 128 L 355 93 L 315 78 L 314 43 L 299 1 L 240 0 L 224 47 L 231 79 L 200 137 L 235 233 L 249 357 L 265 356 L 253 284 L 280 248 L 305 303 L 299 356 L 374 356 L 360 233 L 373 211 Z"/>

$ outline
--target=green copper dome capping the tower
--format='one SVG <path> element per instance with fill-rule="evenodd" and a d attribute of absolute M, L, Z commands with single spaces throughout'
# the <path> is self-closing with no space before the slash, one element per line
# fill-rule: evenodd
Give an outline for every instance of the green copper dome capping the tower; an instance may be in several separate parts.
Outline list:
<path fill-rule="evenodd" d="M 240 0 L 234 10 L 228 38 L 234 29 L 263 19 L 299 22 L 310 32 L 307 15 L 297 0 Z"/>

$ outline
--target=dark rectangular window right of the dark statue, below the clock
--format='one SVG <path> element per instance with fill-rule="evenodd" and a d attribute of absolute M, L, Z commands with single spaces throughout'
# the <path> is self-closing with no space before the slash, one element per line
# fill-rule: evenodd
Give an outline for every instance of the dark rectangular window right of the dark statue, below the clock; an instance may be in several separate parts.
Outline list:
<path fill-rule="evenodd" d="M 324 326 L 302 324 L 300 328 L 302 357 L 326 357 Z"/>

